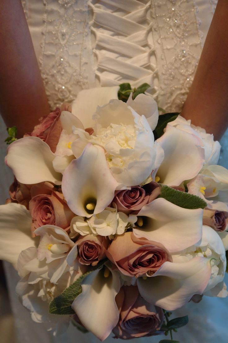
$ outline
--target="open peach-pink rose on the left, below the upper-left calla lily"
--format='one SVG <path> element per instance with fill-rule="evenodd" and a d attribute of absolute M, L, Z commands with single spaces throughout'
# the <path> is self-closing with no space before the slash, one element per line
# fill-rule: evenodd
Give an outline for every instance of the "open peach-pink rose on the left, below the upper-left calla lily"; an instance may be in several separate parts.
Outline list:
<path fill-rule="evenodd" d="M 45 189 L 45 184 L 50 186 Z M 45 190 L 45 193 L 33 196 L 29 202 L 32 237 L 35 236 L 34 231 L 42 225 L 56 225 L 68 230 L 75 214 L 70 211 L 63 194 L 48 182 L 40 187 L 42 191 Z M 38 193 L 38 189 L 39 186 L 33 189 L 33 193 Z"/>

